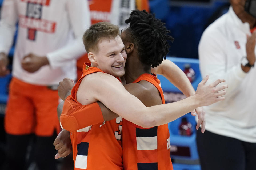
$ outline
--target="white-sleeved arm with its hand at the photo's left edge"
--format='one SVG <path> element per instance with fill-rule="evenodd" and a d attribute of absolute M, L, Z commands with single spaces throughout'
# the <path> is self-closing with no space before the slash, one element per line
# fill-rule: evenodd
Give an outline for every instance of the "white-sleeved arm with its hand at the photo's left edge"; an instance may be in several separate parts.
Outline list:
<path fill-rule="evenodd" d="M 13 44 L 17 18 L 14 0 L 3 1 L 0 20 L 0 76 L 9 73 L 7 70 L 8 53 Z"/>

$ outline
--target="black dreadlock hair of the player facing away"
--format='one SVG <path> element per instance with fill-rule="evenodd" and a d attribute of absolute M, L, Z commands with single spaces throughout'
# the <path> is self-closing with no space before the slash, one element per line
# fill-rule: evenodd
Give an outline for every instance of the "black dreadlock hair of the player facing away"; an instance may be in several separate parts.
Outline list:
<path fill-rule="evenodd" d="M 169 52 L 170 45 L 167 41 L 174 40 L 168 35 L 170 31 L 166 29 L 165 23 L 145 10 L 133 10 L 125 23 L 130 23 L 127 36 L 137 46 L 141 62 L 150 64 L 153 68 L 159 66 Z"/>

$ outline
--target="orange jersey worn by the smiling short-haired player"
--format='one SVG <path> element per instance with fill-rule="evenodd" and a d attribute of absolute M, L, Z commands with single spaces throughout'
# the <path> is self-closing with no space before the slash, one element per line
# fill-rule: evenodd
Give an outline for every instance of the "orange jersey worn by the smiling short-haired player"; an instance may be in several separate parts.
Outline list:
<path fill-rule="evenodd" d="M 76 100 L 76 92 L 82 79 L 88 74 L 103 72 L 96 67 L 86 67 L 86 65 L 84 66 L 84 69 L 86 70 L 83 72 L 82 77 L 78 80 L 71 91 L 70 97 L 72 97 L 73 101 L 76 103 L 79 103 Z M 72 110 L 72 106 L 70 105 L 70 108 L 66 107 L 66 109 Z M 77 110 L 74 110 L 74 112 L 76 111 Z M 120 127 L 122 127 L 122 118 L 118 117 L 105 122 L 105 124 L 102 124 L 101 122 L 71 132 L 70 138 L 73 147 L 73 159 L 75 162 L 74 169 L 122 170 L 123 165 L 121 130 L 119 130 Z"/>

